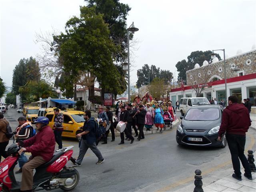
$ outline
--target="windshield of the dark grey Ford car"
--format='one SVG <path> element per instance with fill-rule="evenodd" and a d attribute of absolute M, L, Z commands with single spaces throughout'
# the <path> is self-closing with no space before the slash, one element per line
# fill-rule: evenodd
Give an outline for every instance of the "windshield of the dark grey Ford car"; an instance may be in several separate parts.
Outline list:
<path fill-rule="evenodd" d="M 184 119 L 189 121 L 212 121 L 217 120 L 219 117 L 218 108 L 191 108 Z"/>

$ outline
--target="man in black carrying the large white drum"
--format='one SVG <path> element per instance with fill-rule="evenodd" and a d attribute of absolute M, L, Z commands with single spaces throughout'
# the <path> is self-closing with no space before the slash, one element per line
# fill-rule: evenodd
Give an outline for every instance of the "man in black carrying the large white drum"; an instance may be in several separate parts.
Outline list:
<path fill-rule="evenodd" d="M 130 108 L 130 106 L 128 106 Z M 120 133 L 121 142 L 118 145 L 124 144 L 124 134 L 130 140 L 131 144 L 134 142 L 134 137 L 130 132 L 132 132 L 132 117 L 130 116 L 129 111 L 125 109 L 124 106 L 121 107 L 121 114 L 120 114 L 120 120 L 122 122 L 125 122 L 126 128 L 124 129 L 124 132 Z"/>

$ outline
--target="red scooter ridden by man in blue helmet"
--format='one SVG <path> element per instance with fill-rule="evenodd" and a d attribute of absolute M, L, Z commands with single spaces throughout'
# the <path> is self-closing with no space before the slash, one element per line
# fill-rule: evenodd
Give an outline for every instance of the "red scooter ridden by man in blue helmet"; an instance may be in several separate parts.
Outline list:
<path fill-rule="evenodd" d="M 68 191 L 76 187 L 79 182 L 79 173 L 74 167 L 66 167 L 72 158 L 73 146 L 57 150 L 52 159 L 36 168 L 33 178 L 33 190 L 54 190 L 61 188 Z M 20 147 L 12 144 L 7 150 L 8 156 L 0 163 L 0 192 L 19 192 L 20 182 L 14 177 L 14 167 L 18 162 Z"/>

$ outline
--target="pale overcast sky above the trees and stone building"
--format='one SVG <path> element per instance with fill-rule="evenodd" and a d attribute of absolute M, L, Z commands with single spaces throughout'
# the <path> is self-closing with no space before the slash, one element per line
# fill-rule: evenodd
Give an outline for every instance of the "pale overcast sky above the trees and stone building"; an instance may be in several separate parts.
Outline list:
<path fill-rule="evenodd" d="M 196 50 L 238 49 L 248 52 L 256 41 L 256 0 L 121 0 L 132 10 L 127 25 L 139 28 L 134 38 L 131 84 L 144 64 L 176 72 L 175 64 Z M 79 15 L 83 0 L 0 0 L 0 76 L 12 85 L 12 71 L 22 58 L 40 54 L 35 33 L 64 31 L 66 21 Z M 223 58 L 223 53 L 218 52 Z"/>

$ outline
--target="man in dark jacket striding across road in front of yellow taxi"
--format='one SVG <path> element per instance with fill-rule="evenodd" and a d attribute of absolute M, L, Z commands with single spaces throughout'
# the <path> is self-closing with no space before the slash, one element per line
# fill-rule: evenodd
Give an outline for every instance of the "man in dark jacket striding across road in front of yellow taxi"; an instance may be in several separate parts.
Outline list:
<path fill-rule="evenodd" d="M 81 144 L 79 147 L 79 155 L 76 159 L 76 162 L 73 163 L 74 166 L 81 166 L 82 161 L 84 159 L 84 156 L 90 148 L 92 152 L 98 157 L 98 161 L 96 164 L 102 164 L 104 162 L 104 158 L 102 157 L 102 154 L 100 150 L 98 150 L 96 146 L 96 123 L 94 118 L 91 116 L 91 112 L 89 110 L 86 110 L 84 113 L 84 126 L 83 126 L 83 132 L 77 134 L 76 136 L 78 138 L 81 138 Z"/>

